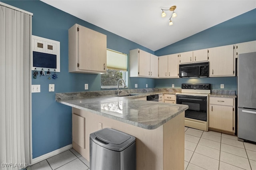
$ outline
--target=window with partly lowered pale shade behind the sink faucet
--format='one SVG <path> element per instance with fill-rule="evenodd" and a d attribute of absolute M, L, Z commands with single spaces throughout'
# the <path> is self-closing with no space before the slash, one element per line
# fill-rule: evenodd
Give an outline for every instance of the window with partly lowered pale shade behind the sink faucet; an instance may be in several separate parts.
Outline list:
<path fill-rule="evenodd" d="M 107 49 L 107 73 L 101 75 L 101 88 L 116 88 L 119 79 L 127 86 L 127 54 Z M 123 87 L 122 81 L 119 87 Z"/>

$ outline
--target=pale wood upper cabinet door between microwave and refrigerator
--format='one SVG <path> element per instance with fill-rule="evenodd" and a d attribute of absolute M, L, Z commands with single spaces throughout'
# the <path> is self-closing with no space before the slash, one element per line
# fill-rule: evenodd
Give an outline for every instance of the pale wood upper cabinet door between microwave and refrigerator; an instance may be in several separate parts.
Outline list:
<path fill-rule="evenodd" d="M 209 48 L 210 77 L 235 76 L 234 45 Z"/>

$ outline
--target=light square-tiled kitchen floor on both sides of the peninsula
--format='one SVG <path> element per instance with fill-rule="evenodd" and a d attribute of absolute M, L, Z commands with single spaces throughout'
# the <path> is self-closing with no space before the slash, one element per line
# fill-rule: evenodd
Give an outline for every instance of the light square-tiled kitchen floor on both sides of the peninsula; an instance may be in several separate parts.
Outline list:
<path fill-rule="evenodd" d="M 34 164 L 27 170 L 90 170 L 74 149 Z M 236 136 L 185 127 L 184 170 L 256 170 L 256 144 Z"/>

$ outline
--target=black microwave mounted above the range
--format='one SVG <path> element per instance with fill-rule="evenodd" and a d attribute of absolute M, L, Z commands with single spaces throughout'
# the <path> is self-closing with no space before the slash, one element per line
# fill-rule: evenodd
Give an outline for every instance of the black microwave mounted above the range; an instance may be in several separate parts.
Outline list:
<path fill-rule="evenodd" d="M 203 63 L 190 63 L 179 65 L 181 78 L 209 77 L 209 61 Z"/>

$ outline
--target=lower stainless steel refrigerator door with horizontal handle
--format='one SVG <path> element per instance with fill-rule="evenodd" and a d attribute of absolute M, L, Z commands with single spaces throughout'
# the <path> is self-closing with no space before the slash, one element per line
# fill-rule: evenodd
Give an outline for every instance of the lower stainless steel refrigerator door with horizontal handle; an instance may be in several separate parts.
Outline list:
<path fill-rule="evenodd" d="M 238 138 L 256 142 L 256 110 L 238 108 Z"/>

